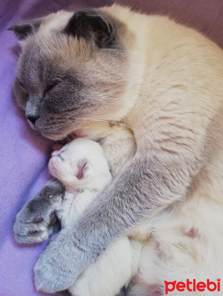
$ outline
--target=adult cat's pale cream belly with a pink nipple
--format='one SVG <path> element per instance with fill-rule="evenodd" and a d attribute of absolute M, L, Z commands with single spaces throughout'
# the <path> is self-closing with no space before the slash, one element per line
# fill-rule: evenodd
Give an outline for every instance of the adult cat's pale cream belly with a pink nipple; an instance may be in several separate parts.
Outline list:
<path fill-rule="evenodd" d="M 209 193 L 160 212 L 148 224 L 151 234 L 141 253 L 138 275 L 147 291 L 154 285 L 163 287 L 164 281 L 221 278 L 223 202 Z"/>

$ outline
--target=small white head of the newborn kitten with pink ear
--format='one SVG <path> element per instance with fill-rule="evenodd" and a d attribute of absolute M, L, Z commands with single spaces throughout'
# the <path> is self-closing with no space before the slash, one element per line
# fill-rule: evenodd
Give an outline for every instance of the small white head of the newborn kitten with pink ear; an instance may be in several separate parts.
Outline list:
<path fill-rule="evenodd" d="M 111 181 L 103 150 L 92 140 L 73 140 L 51 156 L 49 171 L 65 187 L 98 189 Z"/>

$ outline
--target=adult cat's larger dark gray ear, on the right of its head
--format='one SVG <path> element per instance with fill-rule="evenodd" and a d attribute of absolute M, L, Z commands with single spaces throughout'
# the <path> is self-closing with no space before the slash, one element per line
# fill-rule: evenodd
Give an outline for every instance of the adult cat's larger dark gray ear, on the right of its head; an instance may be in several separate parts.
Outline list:
<path fill-rule="evenodd" d="M 115 44 L 115 29 L 111 22 L 93 9 L 78 10 L 70 18 L 64 33 L 74 37 L 94 38 L 99 47 Z"/>

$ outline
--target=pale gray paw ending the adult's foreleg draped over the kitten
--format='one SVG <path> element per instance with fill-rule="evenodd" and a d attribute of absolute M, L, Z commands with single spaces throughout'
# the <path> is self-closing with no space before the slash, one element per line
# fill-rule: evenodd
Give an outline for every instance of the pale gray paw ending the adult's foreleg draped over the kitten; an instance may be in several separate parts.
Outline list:
<path fill-rule="evenodd" d="M 71 229 L 67 228 L 53 237 L 35 264 L 37 291 L 55 293 L 67 289 L 80 273 L 83 254 L 72 241 Z"/>

